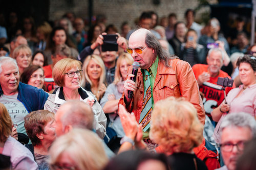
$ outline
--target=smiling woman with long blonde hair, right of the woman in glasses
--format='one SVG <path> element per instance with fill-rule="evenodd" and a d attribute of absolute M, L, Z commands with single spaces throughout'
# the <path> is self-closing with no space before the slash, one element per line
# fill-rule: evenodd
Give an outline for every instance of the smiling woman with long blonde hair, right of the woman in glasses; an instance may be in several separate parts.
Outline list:
<path fill-rule="evenodd" d="M 83 62 L 84 77 L 82 78 L 82 87 L 96 95 L 97 101 L 102 98 L 106 86 L 105 66 L 102 59 L 97 55 L 91 55 Z"/>

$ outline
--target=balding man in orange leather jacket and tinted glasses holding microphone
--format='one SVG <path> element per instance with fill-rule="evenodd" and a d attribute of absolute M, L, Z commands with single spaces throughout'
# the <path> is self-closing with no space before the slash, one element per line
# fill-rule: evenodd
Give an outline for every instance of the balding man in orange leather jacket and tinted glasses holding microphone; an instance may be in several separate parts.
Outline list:
<path fill-rule="evenodd" d="M 184 97 L 195 106 L 198 118 L 204 124 L 205 112 L 197 80 L 187 62 L 164 51 L 157 38 L 146 29 L 139 29 L 130 36 L 127 52 L 140 64 L 140 69 L 134 82 L 131 80 L 134 77 L 132 66 L 129 67 L 119 103 L 128 112 L 134 112 L 137 122 L 142 125 L 143 139 L 151 151 L 157 147 L 157 143 L 148 136 L 151 112 L 157 101 L 168 96 Z M 133 91 L 132 98 L 129 98 L 129 91 Z M 132 140 L 125 137 L 122 141 Z"/>

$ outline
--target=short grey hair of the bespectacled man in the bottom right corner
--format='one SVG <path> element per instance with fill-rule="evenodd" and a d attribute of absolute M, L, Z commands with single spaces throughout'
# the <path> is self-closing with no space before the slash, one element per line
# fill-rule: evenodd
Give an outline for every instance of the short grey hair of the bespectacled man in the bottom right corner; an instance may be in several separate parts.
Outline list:
<path fill-rule="evenodd" d="M 220 135 L 226 127 L 248 127 L 251 130 L 252 136 L 256 137 L 256 120 L 249 113 L 228 114 L 220 125 Z"/>

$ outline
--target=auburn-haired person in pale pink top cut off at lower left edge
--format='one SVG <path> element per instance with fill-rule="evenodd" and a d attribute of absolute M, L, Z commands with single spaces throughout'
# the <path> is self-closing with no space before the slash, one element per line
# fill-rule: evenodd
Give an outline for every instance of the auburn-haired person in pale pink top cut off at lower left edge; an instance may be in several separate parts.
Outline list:
<path fill-rule="evenodd" d="M 0 164 L 1 169 L 38 169 L 32 153 L 11 137 L 12 119 L 5 105 L 0 103 Z M 10 157 L 8 159 L 4 159 Z"/>

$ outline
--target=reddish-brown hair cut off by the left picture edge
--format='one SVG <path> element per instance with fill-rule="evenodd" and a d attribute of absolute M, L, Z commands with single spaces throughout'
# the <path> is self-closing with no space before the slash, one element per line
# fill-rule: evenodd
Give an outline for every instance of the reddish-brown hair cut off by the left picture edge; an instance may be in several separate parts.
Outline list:
<path fill-rule="evenodd" d="M 0 133 L 1 142 L 5 142 L 12 133 L 12 119 L 3 103 L 0 103 Z"/>

